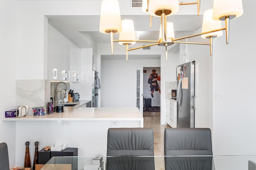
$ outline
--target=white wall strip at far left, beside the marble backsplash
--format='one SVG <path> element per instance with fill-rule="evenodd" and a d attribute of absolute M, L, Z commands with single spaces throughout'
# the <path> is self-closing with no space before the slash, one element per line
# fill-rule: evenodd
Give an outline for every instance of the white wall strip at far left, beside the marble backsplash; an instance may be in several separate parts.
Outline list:
<path fill-rule="evenodd" d="M 12 12 L 10 12 L 12 9 Z M 3 122 L 5 111 L 16 109 L 17 67 L 17 1 L 0 1 L 0 73 L 2 97 L 0 98 L 0 143 L 8 145 L 10 166 L 15 165 L 15 122 Z M 25 145 L 25 144 L 24 144 Z"/>

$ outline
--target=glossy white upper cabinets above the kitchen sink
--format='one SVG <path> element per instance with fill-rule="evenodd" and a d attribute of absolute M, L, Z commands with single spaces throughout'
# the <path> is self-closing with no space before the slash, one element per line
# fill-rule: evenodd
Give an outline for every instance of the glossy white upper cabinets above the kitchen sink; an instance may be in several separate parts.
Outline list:
<path fill-rule="evenodd" d="M 55 81 L 80 81 L 81 49 L 48 24 L 48 73 Z"/>

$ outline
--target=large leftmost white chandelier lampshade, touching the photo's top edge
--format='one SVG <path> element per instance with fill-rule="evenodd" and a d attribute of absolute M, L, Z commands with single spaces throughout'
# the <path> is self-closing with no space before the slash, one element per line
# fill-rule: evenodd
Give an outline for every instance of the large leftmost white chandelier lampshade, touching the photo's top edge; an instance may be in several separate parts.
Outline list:
<path fill-rule="evenodd" d="M 100 11 L 100 32 L 109 34 L 122 31 L 118 0 L 102 0 Z"/>

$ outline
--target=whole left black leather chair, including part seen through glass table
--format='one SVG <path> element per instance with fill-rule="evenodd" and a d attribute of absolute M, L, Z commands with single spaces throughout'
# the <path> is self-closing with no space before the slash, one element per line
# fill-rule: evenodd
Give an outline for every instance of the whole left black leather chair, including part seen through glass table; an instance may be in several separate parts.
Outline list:
<path fill-rule="evenodd" d="M 109 128 L 107 156 L 107 170 L 154 170 L 153 129 Z"/>

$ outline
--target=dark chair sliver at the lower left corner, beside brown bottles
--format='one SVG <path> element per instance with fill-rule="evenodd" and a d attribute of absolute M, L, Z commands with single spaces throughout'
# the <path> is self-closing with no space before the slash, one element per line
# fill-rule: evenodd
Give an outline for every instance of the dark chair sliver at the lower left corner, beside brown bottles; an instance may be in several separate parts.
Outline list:
<path fill-rule="evenodd" d="M 9 155 L 6 143 L 0 143 L 0 170 L 10 170 Z"/>

